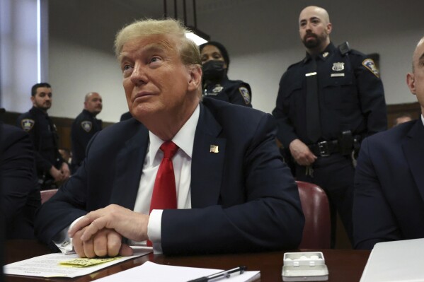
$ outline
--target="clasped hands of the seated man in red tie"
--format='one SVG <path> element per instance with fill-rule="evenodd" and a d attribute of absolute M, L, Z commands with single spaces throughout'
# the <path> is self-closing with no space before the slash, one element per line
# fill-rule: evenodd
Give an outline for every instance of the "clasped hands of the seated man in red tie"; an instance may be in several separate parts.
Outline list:
<path fill-rule="evenodd" d="M 69 231 L 79 257 L 115 257 L 132 255 L 122 237 L 134 241 L 147 240 L 149 216 L 111 204 L 87 213 Z"/>

